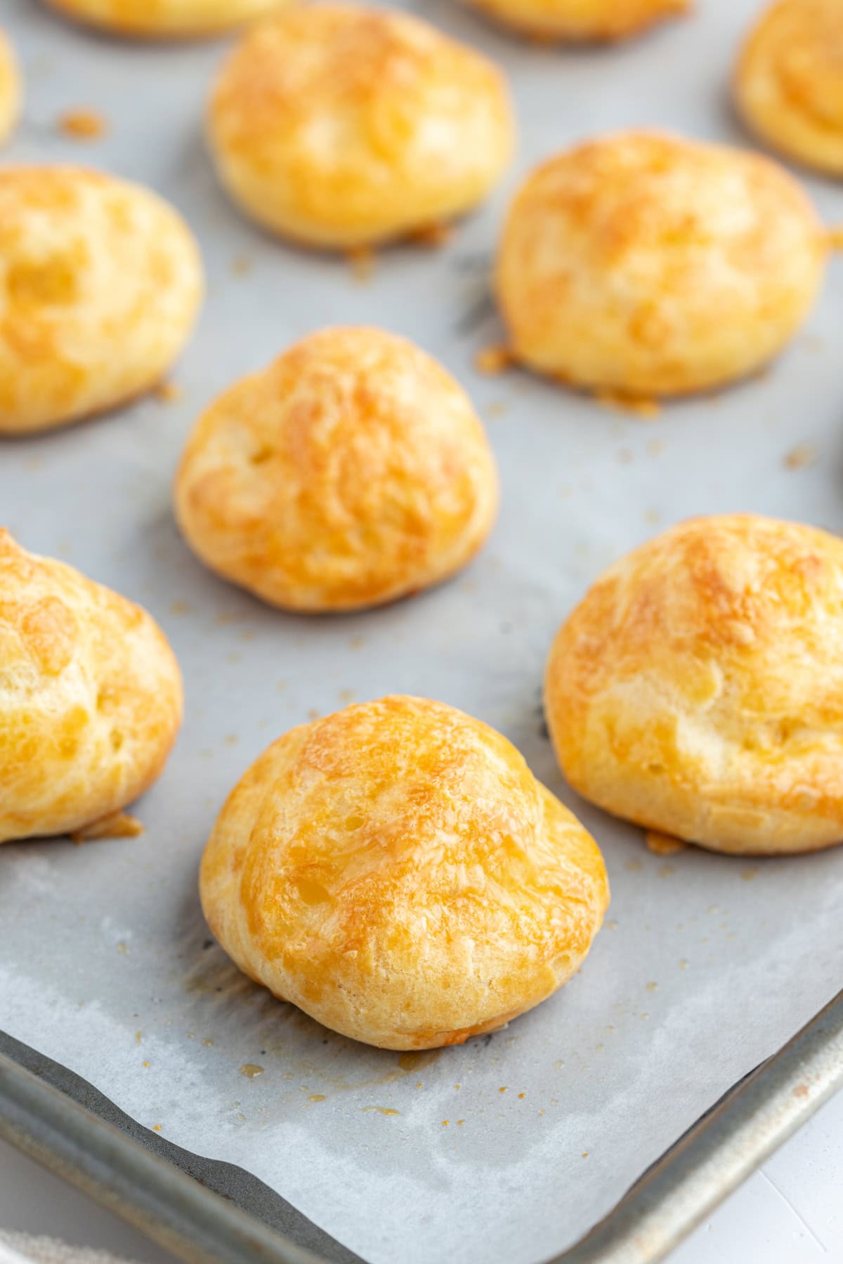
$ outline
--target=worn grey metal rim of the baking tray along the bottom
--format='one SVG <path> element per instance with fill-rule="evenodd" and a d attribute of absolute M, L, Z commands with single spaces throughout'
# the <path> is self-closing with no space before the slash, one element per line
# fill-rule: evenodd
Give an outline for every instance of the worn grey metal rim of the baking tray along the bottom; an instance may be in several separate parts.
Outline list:
<path fill-rule="evenodd" d="M 734 1085 L 590 1232 L 536 1264 L 665 1259 L 842 1087 L 843 991 Z M 190 1264 L 359 1260 L 255 1177 L 155 1136 L 81 1077 L 1 1031 L 0 1136 Z M 315 1250 L 272 1221 L 303 1232 Z"/>

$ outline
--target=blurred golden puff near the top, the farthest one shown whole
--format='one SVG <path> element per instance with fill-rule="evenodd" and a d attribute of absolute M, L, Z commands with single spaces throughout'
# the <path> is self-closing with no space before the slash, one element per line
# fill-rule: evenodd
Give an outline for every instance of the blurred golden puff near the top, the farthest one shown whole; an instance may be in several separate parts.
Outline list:
<path fill-rule="evenodd" d="M 282 236 L 349 248 L 480 202 L 512 150 L 502 72 L 418 18 L 312 4 L 252 28 L 209 135 L 222 183 Z"/>

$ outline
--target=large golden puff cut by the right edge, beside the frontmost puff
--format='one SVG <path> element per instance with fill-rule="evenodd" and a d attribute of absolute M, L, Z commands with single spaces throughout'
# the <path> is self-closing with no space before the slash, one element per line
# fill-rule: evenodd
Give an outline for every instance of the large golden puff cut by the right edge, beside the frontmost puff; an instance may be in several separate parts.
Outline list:
<path fill-rule="evenodd" d="M 843 541 L 691 518 L 562 624 L 546 709 L 562 772 L 618 817 L 714 851 L 843 839 Z"/>

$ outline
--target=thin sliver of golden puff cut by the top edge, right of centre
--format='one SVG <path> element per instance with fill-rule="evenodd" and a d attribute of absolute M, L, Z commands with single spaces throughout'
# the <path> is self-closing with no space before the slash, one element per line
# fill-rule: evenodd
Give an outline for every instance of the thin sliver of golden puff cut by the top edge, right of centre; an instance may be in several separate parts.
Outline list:
<path fill-rule="evenodd" d="M 685 13 L 691 0 L 468 0 L 525 35 L 541 39 L 622 39 Z"/>

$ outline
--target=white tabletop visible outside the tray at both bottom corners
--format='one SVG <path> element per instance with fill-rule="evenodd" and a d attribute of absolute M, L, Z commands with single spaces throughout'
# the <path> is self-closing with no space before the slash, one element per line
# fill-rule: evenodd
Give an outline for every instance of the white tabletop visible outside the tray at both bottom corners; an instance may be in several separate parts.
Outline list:
<path fill-rule="evenodd" d="M 671 1256 L 671 1264 L 843 1259 L 843 1093 L 838 1093 Z M 0 1226 L 142 1261 L 169 1256 L 0 1141 Z"/>

